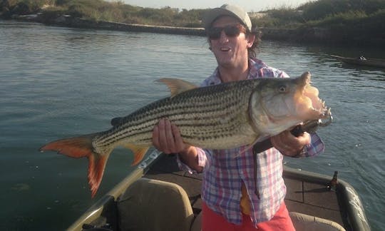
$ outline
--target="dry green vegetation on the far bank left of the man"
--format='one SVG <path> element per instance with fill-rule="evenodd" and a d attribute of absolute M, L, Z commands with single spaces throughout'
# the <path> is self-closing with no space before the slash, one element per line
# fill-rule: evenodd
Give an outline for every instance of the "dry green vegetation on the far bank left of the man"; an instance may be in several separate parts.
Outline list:
<path fill-rule="evenodd" d="M 1 7 L 0 0 L 0 7 Z M 162 9 L 130 6 L 122 1 L 103 0 L 8 0 L 12 14 L 31 14 L 41 10 L 43 17 L 60 14 L 90 19 L 92 21 L 115 21 L 127 24 L 200 27 L 204 9 Z M 24 9 L 20 11 L 18 9 Z M 0 9 L 1 12 L 1 9 Z"/>

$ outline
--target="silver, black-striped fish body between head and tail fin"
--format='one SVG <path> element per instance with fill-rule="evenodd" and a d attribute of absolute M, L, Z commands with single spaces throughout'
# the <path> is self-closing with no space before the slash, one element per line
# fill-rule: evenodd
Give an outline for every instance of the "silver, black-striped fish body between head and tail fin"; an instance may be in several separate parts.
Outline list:
<path fill-rule="evenodd" d="M 185 143 L 200 148 L 226 149 L 250 144 L 259 135 L 252 129 L 249 101 L 260 81 L 240 81 L 195 88 L 150 103 L 122 118 L 98 135 L 94 147 L 135 143 L 152 145 L 154 126 L 167 118 L 178 126 Z"/>

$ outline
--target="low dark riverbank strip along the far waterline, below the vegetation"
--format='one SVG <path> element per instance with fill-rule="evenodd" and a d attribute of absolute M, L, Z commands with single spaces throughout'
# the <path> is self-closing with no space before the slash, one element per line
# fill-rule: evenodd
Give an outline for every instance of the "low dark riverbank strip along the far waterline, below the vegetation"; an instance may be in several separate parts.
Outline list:
<path fill-rule="evenodd" d="M 83 29 L 205 36 L 205 30 L 203 28 L 150 26 L 143 24 L 124 24 L 111 21 L 93 21 L 66 14 L 56 17 L 43 17 L 42 14 L 13 15 L 11 16 L 11 19 Z M 361 33 L 360 28 L 356 29 L 354 36 L 351 35 L 351 31 L 347 32 L 338 28 L 321 27 L 299 27 L 297 29 L 261 28 L 260 31 L 262 32 L 262 40 L 317 43 L 324 46 L 385 47 L 385 34 L 383 36 L 370 36 L 367 33 Z"/>

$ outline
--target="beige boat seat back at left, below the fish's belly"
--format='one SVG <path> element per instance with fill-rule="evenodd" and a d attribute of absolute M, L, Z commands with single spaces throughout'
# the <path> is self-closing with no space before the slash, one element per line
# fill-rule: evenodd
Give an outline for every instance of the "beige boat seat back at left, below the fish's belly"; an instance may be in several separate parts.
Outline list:
<path fill-rule="evenodd" d="M 188 231 L 194 220 L 187 193 L 175 183 L 140 178 L 117 203 L 120 230 Z"/>

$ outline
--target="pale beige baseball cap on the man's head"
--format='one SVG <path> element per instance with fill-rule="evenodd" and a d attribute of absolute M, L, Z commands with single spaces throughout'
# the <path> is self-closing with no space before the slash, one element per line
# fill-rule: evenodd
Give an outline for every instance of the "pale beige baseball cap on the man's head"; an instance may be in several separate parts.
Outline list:
<path fill-rule="evenodd" d="M 237 5 L 224 4 L 218 8 L 211 9 L 203 17 L 203 25 L 205 29 L 209 29 L 212 22 L 219 16 L 232 16 L 239 19 L 246 26 L 248 31 L 252 31 L 252 24 L 247 12 Z"/>

